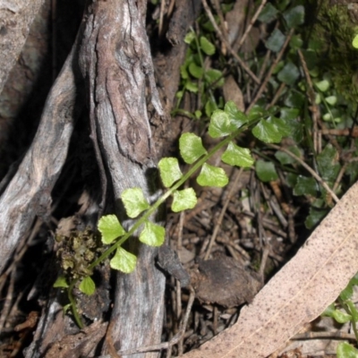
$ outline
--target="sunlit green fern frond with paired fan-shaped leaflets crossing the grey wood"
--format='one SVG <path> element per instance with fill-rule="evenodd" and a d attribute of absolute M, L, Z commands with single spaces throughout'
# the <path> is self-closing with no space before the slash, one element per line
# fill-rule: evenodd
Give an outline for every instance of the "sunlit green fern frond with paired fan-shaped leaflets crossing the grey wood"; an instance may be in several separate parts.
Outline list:
<path fill-rule="evenodd" d="M 194 208 L 197 203 L 195 191 L 192 188 L 181 189 L 181 187 L 197 171 L 200 171 L 197 182 L 201 186 L 222 187 L 228 183 L 229 179 L 222 168 L 207 163 L 219 149 L 226 148 L 221 157 L 224 163 L 231 166 L 251 167 L 254 159 L 251 157 L 250 149 L 241 148 L 234 143 L 234 139 L 239 134 L 251 129 L 252 134 L 260 141 L 268 143 L 281 141 L 283 136 L 290 134 L 292 121 L 275 117 L 275 110 L 274 108 L 266 111 L 256 107 L 249 115 L 244 115 L 233 102 L 226 103 L 224 110 L 217 109 L 211 115 L 209 135 L 223 140 L 209 151 L 204 148 L 201 138 L 196 134 L 183 133 L 179 140 L 179 149 L 183 161 L 191 165 L 190 169 L 183 174 L 177 158 L 162 158 L 158 163 L 158 170 L 166 192 L 152 205 L 145 198 L 141 188 L 125 190 L 121 196 L 124 209 L 128 217 L 136 218 L 136 221 L 129 231 L 125 231 L 115 215 L 101 217 L 98 221 L 98 231 L 101 234 L 102 244 L 109 247 L 83 272 L 93 272 L 98 264 L 112 256 L 109 261 L 111 268 L 131 273 L 137 258 L 132 252 L 124 250 L 122 245 L 134 233 L 139 233 L 141 243 L 149 246 L 160 246 L 164 243 L 165 228 L 153 223 L 149 217 L 167 198 L 172 197 L 171 209 L 174 212 Z M 72 295 L 72 290 L 78 282 L 80 283 L 78 288 L 82 293 L 94 293 L 95 283 L 90 275 L 75 278 L 71 275 L 59 277 L 55 286 L 67 289 L 73 316 L 77 324 L 83 327 Z"/>

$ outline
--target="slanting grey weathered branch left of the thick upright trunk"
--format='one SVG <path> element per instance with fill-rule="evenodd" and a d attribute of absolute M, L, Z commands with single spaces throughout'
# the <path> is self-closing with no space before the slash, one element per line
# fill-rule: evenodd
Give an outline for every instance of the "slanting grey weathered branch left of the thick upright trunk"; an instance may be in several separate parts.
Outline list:
<path fill-rule="evenodd" d="M 50 213 L 51 191 L 64 166 L 72 135 L 76 78 L 72 54 L 51 89 L 38 132 L 0 197 L 0 272 L 35 216 Z"/>

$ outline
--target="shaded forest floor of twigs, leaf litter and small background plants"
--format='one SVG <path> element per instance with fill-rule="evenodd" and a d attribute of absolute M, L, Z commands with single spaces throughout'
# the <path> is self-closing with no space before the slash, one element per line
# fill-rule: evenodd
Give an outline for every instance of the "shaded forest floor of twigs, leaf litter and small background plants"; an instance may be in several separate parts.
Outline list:
<path fill-rule="evenodd" d="M 81 21 L 81 1 L 62 3 L 57 4 L 55 17 L 49 2 L 44 5 L 0 98 L 0 175 L 4 179 L 0 192 L 34 137 L 48 90 Z M 158 143 L 160 153 L 178 157 L 178 136 L 189 131 L 197 133 L 206 148 L 212 148 L 217 141 L 206 135 L 209 116 L 229 100 L 243 112 L 271 108 L 277 117 L 294 123 L 280 147 L 263 144 L 245 133 L 238 143 L 251 149 L 254 166 L 243 170 L 224 165 L 230 177 L 225 188 L 203 188 L 192 178 L 190 185 L 199 198 L 195 209 L 176 214 L 168 205 L 170 246 L 177 251 L 196 293 L 186 331 L 172 350 L 176 356 L 233 325 L 243 303 L 256 294 L 256 283 L 268 282 L 334 205 L 331 192 L 312 177 L 304 163 L 339 197 L 356 181 L 357 107 L 353 99 L 356 83 L 352 83 L 356 55 L 347 45 L 353 25 L 343 5 L 337 5 L 341 6 L 337 13 L 329 13 L 324 4 L 316 8 L 309 2 L 304 6 L 299 2 L 273 2 L 257 13 L 259 5 L 250 1 L 213 1 L 209 11 L 215 15 L 218 30 L 210 22 L 208 10 L 202 8 L 185 38 L 188 46 L 180 78 L 179 72 L 163 74 L 168 65 L 163 64 L 165 48 L 172 46 L 165 38 L 172 9 L 170 4 L 154 3 L 149 2 L 149 40 L 153 54 L 163 54 L 154 61 L 156 71 L 161 72 L 161 81 L 178 80 L 178 94 L 171 108 L 173 128 Z M 321 17 L 316 15 L 317 21 L 313 21 L 311 13 L 319 10 Z M 337 30 L 341 12 L 346 13 L 347 25 Z M 251 21 L 256 13 L 258 20 Z M 325 16 L 331 16 L 326 25 Z M 248 28 L 251 30 L 242 41 Z M 336 48 L 324 44 L 327 38 L 333 38 L 330 43 Z M 178 40 L 183 42 L 183 38 Z M 249 72 L 237 64 L 233 53 L 241 56 Z M 343 58 L 340 64 L 337 53 Z M 158 87 L 160 90 L 160 83 Z M 33 224 L 0 277 L 1 357 L 21 356 L 30 344 L 41 305 L 53 284 L 44 278 L 50 269 L 44 263 L 54 255 L 57 225 L 79 210 L 79 202 L 86 205 L 84 178 L 95 166 L 85 151 L 92 150 L 88 131 L 82 115 L 52 193 L 48 222 L 38 219 Z M 210 164 L 218 165 L 219 156 Z M 183 163 L 182 169 L 185 171 Z M 247 274 L 248 282 L 243 283 L 244 275 L 238 275 L 241 271 L 237 270 Z M 243 285 L 252 290 L 243 289 Z M 188 289 L 174 277 L 167 277 L 163 341 L 178 332 L 189 298 Z M 300 355 L 301 348 L 292 349 L 296 349 L 295 356 L 308 356 Z M 317 349 L 310 356 L 334 354 L 334 345 L 308 349 Z"/>

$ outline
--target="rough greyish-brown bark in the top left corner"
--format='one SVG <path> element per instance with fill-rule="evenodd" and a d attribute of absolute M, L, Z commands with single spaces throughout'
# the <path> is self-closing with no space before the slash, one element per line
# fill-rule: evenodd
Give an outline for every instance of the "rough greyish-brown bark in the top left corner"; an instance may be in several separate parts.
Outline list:
<path fill-rule="evenodd" d="M 44 0 L 0 0 L 0 92 Z"/>

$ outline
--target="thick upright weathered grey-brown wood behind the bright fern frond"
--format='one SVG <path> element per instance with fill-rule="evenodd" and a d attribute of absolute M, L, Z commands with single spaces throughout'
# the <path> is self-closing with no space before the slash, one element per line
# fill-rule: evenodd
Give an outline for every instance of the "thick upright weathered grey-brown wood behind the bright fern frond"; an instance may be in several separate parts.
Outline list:
<path fill-rule="evenodd" d="M 162 109 L 154 84 L 145 13 L 145 4 L 133 0 L 93 3 L 80 51 L 95 127 L 92 137 L 98 139 L 118 204 L 127 188 L 141 187 L 149 201 L 156 192 L 155 178 L 148 175 L 156 156 L 147 115 L 147 80 L 153 106 L 159 114 Z M 123 212 L 117 212 L 123 217 Z M 116 349 L 156 344 L 162 331 L 165 277 L 155 267 L 157 250 L 134 238 L 131 246 L 130 250 L 138 254 L 137 268 L 130 275 L 118 274 L 116 280 L 110 332 Z M 103 351 L 107 353 L 106 346 Z M 135 355 L 144 356 L 158 354 Z"/>

